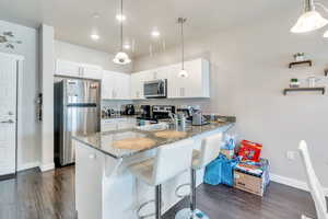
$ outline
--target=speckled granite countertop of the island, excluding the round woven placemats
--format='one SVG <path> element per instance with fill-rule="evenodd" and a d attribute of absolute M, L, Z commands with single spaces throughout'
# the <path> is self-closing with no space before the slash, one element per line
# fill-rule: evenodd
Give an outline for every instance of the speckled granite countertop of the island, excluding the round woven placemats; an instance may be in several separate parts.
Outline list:
<path fill-rule="evenodd" d="M 86 146 L 90 146 L 103 153 L 106 153 L 107 155 L 110 155 L 116 159 L 121 159 L 121 158 L 134 155 L 145 150 L 157 148 L 163 145 L 173 143 L 183 139 L 191 138 L 220 128 L 222 130 L 226 130 L 231 128 L 234 124 L 235 124 L 234 120 L 223 122 L 223 123 L 211 122 L 210 124 L 203 126 L 186 125 L 185 128 L 181 128 L 181 127 L 175 127 L 174 125 L 171 125 L 168 128 L 162 129 L 162 130 L 177 130 L 177 131 L 186 132 L 186 136 L 178 137 L 178 138 L 161 138 L 155 136 L 155 134 L 161 130 L 144 130 L 134 127 L 130 129 L 97 132 L 87 136 L 79 135 L 79 136 L 74 136 L 73 139 Z M 119 149 L 114 147 L 114 142 L 125 140 L 125 139 L 131 139 L 131 138 L 147 138 L 153 140 L 155 143 L 152 147 L 147 149 Z"/>

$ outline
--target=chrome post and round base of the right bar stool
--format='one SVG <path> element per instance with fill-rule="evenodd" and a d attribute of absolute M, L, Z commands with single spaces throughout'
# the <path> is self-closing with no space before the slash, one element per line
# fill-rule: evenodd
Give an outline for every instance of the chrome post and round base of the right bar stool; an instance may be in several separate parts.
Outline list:
<path fill-rule="evenodd" d="M 196 170 L 190 171 L 190 208 L 184 208 L 175 215 L 175 219 L 210 219 L 196 208 Z"/>

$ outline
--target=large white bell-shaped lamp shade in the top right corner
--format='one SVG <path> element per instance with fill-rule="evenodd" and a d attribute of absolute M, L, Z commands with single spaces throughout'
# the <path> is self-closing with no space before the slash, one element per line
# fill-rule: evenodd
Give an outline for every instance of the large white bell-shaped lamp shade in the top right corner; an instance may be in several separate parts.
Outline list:
<path fill-rule="evenodd" d="M 304 13 L 300 16 L 296 24 L 291 28 L 292 33 L 312 32 L 328 24 L 328 21 L 316 11 L 314 0 L 304 1 Z"/>

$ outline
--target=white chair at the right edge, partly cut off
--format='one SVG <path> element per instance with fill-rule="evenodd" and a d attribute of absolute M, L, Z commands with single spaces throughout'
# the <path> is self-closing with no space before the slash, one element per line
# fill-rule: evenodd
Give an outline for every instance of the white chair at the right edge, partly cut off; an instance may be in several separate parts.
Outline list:
<path fill-rule="evenodd" d="M 325 193 L 324 193 L 323 186 L 313 169 L 308 149 L 307 149 L 307 145 L 304 140 L 302 140 L 300 142 L 298 150 L 301 152 L 301 157 L 303 158 L 304 166 L 306 170 L 306 176 L 307 176 L 307 185 L 311 191 L 312 198 L 315 203 L 317 218 L 318 219 L 328 219 L 327 201 L 325 198 Z M 306 217 L 302 216 L 302 218 L 306 218 Z"/>

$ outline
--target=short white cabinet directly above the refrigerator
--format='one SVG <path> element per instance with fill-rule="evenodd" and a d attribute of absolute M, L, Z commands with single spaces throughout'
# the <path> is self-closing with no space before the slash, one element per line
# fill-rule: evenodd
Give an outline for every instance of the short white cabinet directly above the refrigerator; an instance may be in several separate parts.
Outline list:
<path fill-rule="evenodd" d="M 102 67 L 86 64 L 78 64 L 73 61 L 60 60 L 56 61 L 56 76 L 102 79 Z"/>

